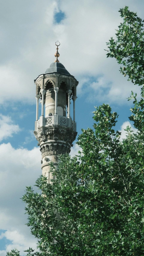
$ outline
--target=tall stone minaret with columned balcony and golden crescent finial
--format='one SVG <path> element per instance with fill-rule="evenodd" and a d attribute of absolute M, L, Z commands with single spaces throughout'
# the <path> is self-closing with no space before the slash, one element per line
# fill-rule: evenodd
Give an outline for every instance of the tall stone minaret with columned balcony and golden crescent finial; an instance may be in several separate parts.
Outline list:
<path fill-rule="evenodd" d="M 53 62 L 45 74 L 34 80 L 36 84 L 36 121 L 35 137 L 41 151 L 42 174 L 47 177 L 48 183 L 52 177 L 49 163 L 58 165 L 58 155 L 70 153 L 73 141 L 76 138 L 75 101 L 78 81 L 70 75 L 58 61 L 57 46 Z M 41 99 L 41 116 L 38 119 L 38 102 Z M 73 100 L 73 120 L 71 118 L 70 100 Z M 45 115 L 44 115 L 45 105 Z"/>

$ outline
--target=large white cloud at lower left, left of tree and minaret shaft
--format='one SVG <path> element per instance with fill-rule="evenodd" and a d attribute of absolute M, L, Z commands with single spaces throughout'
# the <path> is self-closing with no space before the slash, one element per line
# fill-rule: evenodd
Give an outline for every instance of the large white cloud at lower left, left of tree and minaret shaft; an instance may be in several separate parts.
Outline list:
<path fill-rule="evenodd" d="M 0 229 L 7 230 L 1 234 L 12 244 L 6 245 L 6 251 L 17 248 L 23 255 L 23 250 L 36 247 L 36 239 L 25 225 L 27 216 L 24 214 L 24 203 L 20 199 L 26 186 L 34 185 L 41 175 L 41 153 L 39 148 L 32 150 L 14 149 L 10 143 L 0 145 L 0 194 L 1 213 Z M 0 255 L 5 255 L 0 251 Z"/>

